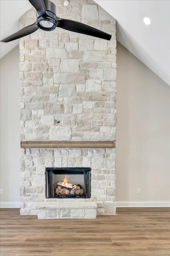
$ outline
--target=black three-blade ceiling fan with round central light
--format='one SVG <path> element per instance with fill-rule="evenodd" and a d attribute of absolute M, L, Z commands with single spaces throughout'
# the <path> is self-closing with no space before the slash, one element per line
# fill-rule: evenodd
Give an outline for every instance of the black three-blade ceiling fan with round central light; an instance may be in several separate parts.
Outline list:
<path fill-rule="evenodd" d="M 56 27 L 61 27 L 62 29 L 66 29 L 69 31 L 85 34 L 85 35 L 92 35 L 94 37 L 110 40 L 111 35 L 90 27 L 86 24 L 71 21 L 70 19 L 61 19 L 56 16 L 56 5 L 49 1 L 49 0 L 29 0 L 29 2 L 35 7 L 37 10 L 37 19 L 36 22 L 32 25 L 24 27 L 23 29 L 19 30 L 18 32 L 10 35 L 2 39 L 0 42 L 10 42 L 15 39 L 25 37 L 37 29 L 42 29 L 45 31 L 52 31 Z"/>

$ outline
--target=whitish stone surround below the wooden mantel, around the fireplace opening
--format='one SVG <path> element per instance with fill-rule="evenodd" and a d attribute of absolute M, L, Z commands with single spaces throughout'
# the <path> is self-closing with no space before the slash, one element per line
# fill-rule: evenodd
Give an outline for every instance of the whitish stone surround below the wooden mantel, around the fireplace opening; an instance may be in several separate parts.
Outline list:
<path fill-rule="evenodd" d="M 97 202 L 97 213 L 113 214 L 115 149 L 21 149 L 21 214 L 37 214 L 37 202 Z M 91 167 L 90 199 L 45 197 L 45 167 Z"/>

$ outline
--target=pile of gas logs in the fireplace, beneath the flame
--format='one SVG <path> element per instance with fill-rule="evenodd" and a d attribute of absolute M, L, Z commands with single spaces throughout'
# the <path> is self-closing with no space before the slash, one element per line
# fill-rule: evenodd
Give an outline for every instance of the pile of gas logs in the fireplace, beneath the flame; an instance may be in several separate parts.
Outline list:
<path fill-rule="evenodd" d="M 55 194 L 57 195 L 83 195 L 83 189 L 80 184 L 69 184 L 67 187 L 67 183 L 64 183 L 62 186 L 62 182 L 57 183 L 57 188 Z"/>

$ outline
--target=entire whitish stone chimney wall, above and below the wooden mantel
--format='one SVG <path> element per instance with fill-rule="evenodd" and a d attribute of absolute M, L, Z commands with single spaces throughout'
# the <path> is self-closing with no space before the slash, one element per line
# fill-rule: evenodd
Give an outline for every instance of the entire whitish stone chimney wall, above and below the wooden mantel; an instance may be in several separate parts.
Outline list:
<path fill-rule="evenodd" d="M 59 17 L 96 27 L 112 39 L 60 28 L 20 39 L 21 141 L 115 141 L 116 21 L 93 1 L 70 1 L 67 8 L 53 2 Z M 20 18 L 20 28 L 35 19 L 32 8 Z M 92 167 L 90 201 L 97 201 L 98 212 L 115 213 L 114 158 L 115 149 L 22 149 L 21 213 L 36 214 L 35 202 L 49 200 L 45 167 L 53 166 Z"/>

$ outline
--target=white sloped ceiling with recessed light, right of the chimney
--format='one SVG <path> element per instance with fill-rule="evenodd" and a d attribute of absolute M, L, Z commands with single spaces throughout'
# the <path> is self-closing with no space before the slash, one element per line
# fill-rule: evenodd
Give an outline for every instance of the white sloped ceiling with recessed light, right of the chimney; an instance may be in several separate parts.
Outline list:
<path fill-rule="evenodd" d="M 116 18 L 117 41 L 169 84 L 169 0 L 95 2 Z M 144 17 L 151 25 L 145 25 Z"/>

